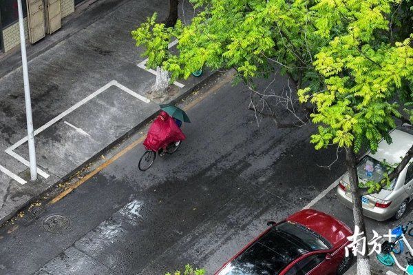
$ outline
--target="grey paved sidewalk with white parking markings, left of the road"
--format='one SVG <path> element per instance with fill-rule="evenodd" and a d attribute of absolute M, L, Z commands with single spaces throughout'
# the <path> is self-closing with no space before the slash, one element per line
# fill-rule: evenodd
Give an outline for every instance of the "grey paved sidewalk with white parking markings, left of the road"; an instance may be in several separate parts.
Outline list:
<path fill-rule="evenodd" d="M 100 0 L 79 14 L 70 30 L 65 24 L 61 34 L 30 46 L 36 182 L 30 182 L 28 167 L 21 68 L 4 69 L 17 62 L 19 52 L 0 60 L 5 74 L 0 79 L 0 224 L 158 112 L 158 103 L 145 97 L 155 76 L 138 66 L 141 49 L 130 32 L 155 11 L 165 17 L 164 2 Z M 188 94 L 210 75 L 181 81 L 166 101 Z"/>

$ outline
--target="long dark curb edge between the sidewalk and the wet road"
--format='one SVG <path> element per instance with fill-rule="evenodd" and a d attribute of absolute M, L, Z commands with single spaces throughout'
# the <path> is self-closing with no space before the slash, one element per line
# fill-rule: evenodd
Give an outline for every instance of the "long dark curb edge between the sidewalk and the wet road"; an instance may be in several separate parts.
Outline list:
<path fill-rule="evenodd" d="M 225 72 L 220 72 L 220 71 L 214 71 L 211 72 L 211 74 L 209 74 L 207 77 L 205 77 L 204 79 L 202 79 L 200 82 L 196 83 L 195 85 L 193 85 L 191 88 L 189 88 L 188 90 L 182 92 L 182 94 L 178 95 L 176 98 L 171 99 L 169 102 L 167 103 L 171 103 L 171 104 L 175 104 L 178 101 L 180 101 L 181 99 L 184 99 L 185 97 L 189 96 L 189 94 L 191 94 L 192 92 L 194 92 L 195 90 L 198 90 L 199 88 L 202 87 L 202 85 L 206 84 L 207 82 L 213 80 L 213 79 L 217 79 L 218 77 L 220 77 L 222 74 L 224 74 Z M 149 121 L 151 121 L 152 119 L 154 119 L 158 113 L 160 111 L 156 111 L 153 114 L 150 114 L 149 116 L 147 116 L 146 119 L 144 119 L 143 121 L 141 121 L 140 123 L 138 123 L 136 126 L 134 126 L 134 128 L 131 128 L 131 130 L 129 130 L 128 132 L 126 132 L 125 134 L 123 134 L 122 136 L 118 137 L 118 139 L 116 139 L 115 141 L 113 141 L 112 143 L 110 143 L 109 145 L 107 145 L 106 147 L 104 147 L 102 150 L 100 150 L 99 152 L 97 152 L 96 154 L 94 154 L 94 156 L 92 156 L 91 158 L 89 158 L 87 161 L 85 161 L 84 163 L 82 163 L 81 165 L 78 165 L 78 167 L 74 168 L 74 170 L 72 170 L 72 172 L 66 174 L 65 176 L 63 176 L 61 179 L 59 179 L 59 181 L 56 181 L 55 183 L 53 183 L 52 185 L 50 185 L 49 187 L 47 187 L 47 189 L 43 190 L 43 192 L 41 192 L 40 194 L 37 194 L 35 196 L 32 196 L 32 198 L 30 198 L 28 201 L 26 201 L 25 203 L 22 203 L 21 206 L 19 208 L 17 208 L 16 210 L 10 212 L 10 214 L 7 214 L 6 216 L 4 216 L 3 218 L 0 218 L 0 227 L 10 221 L 11 218 L 13 218 L 14 216 L 16 216 L 17 213 L 25 210 L 26 207 L 28 207 L 28 205 L 30 205 L 31 203 L 34 203 L 35 201 L 39 201 L 39 198 L 48 195 L 47 193 L 50 192 L 51 190 L 55 189 L 57 185 L 59 185 L 60 183 L 63 183 L 65 181 L 68 181 L 72 176 L 74 176 L 74 174 L 76 174 L 76 172 L 78 172 L 79 170 L 82 170 L 84 167 L 86 167 L 89 163 L 94 162 L 96 159 L 98 159 L 98 157 L 100 157 L 102 154 L 105 154 L 105 152 L 109 151 L 112 149 L 112 147 L 120 144 L 122 141 L 124 141 L 125 139 L 129 138 L 129 136 L 131 136 L 132 134 L 135 134 L 136 132 L 138 132 L 138 130 L 140 128 L 142 128 L 143 126 L 145 126 L 147 123 L 149 123 Z M 48 198 L 47 201 L 51 201 L 52 198 Z"/>

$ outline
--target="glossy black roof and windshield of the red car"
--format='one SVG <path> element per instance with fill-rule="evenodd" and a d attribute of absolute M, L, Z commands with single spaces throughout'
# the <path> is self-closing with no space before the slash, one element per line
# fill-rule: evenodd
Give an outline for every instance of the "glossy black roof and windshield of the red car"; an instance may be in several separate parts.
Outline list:
<path fill-rule="evenodd" d="M 304 227 L 284 222 L 271 228 L 218 275 L 277 275 L 299 256 L 328 248 Z"/>

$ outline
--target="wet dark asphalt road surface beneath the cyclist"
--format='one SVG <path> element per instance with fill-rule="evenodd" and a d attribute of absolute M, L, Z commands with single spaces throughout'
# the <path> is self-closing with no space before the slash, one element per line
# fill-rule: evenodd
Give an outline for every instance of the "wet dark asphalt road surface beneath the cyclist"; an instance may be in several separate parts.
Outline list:
<path fill-rule="evenodd" d="M 213 274 L 266 221 L 300 210 L 343 173 L 342 159 L 318 166 L 335 150 L 313 149 L 313 126 L 258 126 L 242 90 L 226 84 L 189 110 L 187 140 L 147 172 L 138 145 L 30 225 L 0 230 L 0 274 L 148 275 L 186 263 Z M 70 226 L 47 232 L 52 214 Z"/>

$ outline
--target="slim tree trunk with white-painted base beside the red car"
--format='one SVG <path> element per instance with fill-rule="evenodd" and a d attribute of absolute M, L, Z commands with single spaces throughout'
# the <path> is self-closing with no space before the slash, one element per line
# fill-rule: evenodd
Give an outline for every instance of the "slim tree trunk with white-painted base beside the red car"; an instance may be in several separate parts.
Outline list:
<path fill-rule="evenodd" d="M 361 195 L 359 189 L 359 176 L 357 176 L 357 158 L 354 154 L 353 147 L 346 147 L 346 166 L 348 171 L 348 180 L 350 181 L 352 198 L 353 198 L 353 218 L 354 218 L 354 225 L 357 225 L 360 229 L 360 232 L 363 232 L 362 236 L 359 238 L 365 237 L 366 235 L 366 225 L 364 224 L 364 216 L 363 216 L 363 207 L 361 206 Z M 357 250 L 361 251 L 360 245 L 363 243 L 359 243 L 357 246 Z M 364 255 L 358 254 L 357 255 L 357 275 L 370 275 L 370 257 L 368 256 L 368 245 L 367 241 L 366 245 L 366 253 Z"/>

